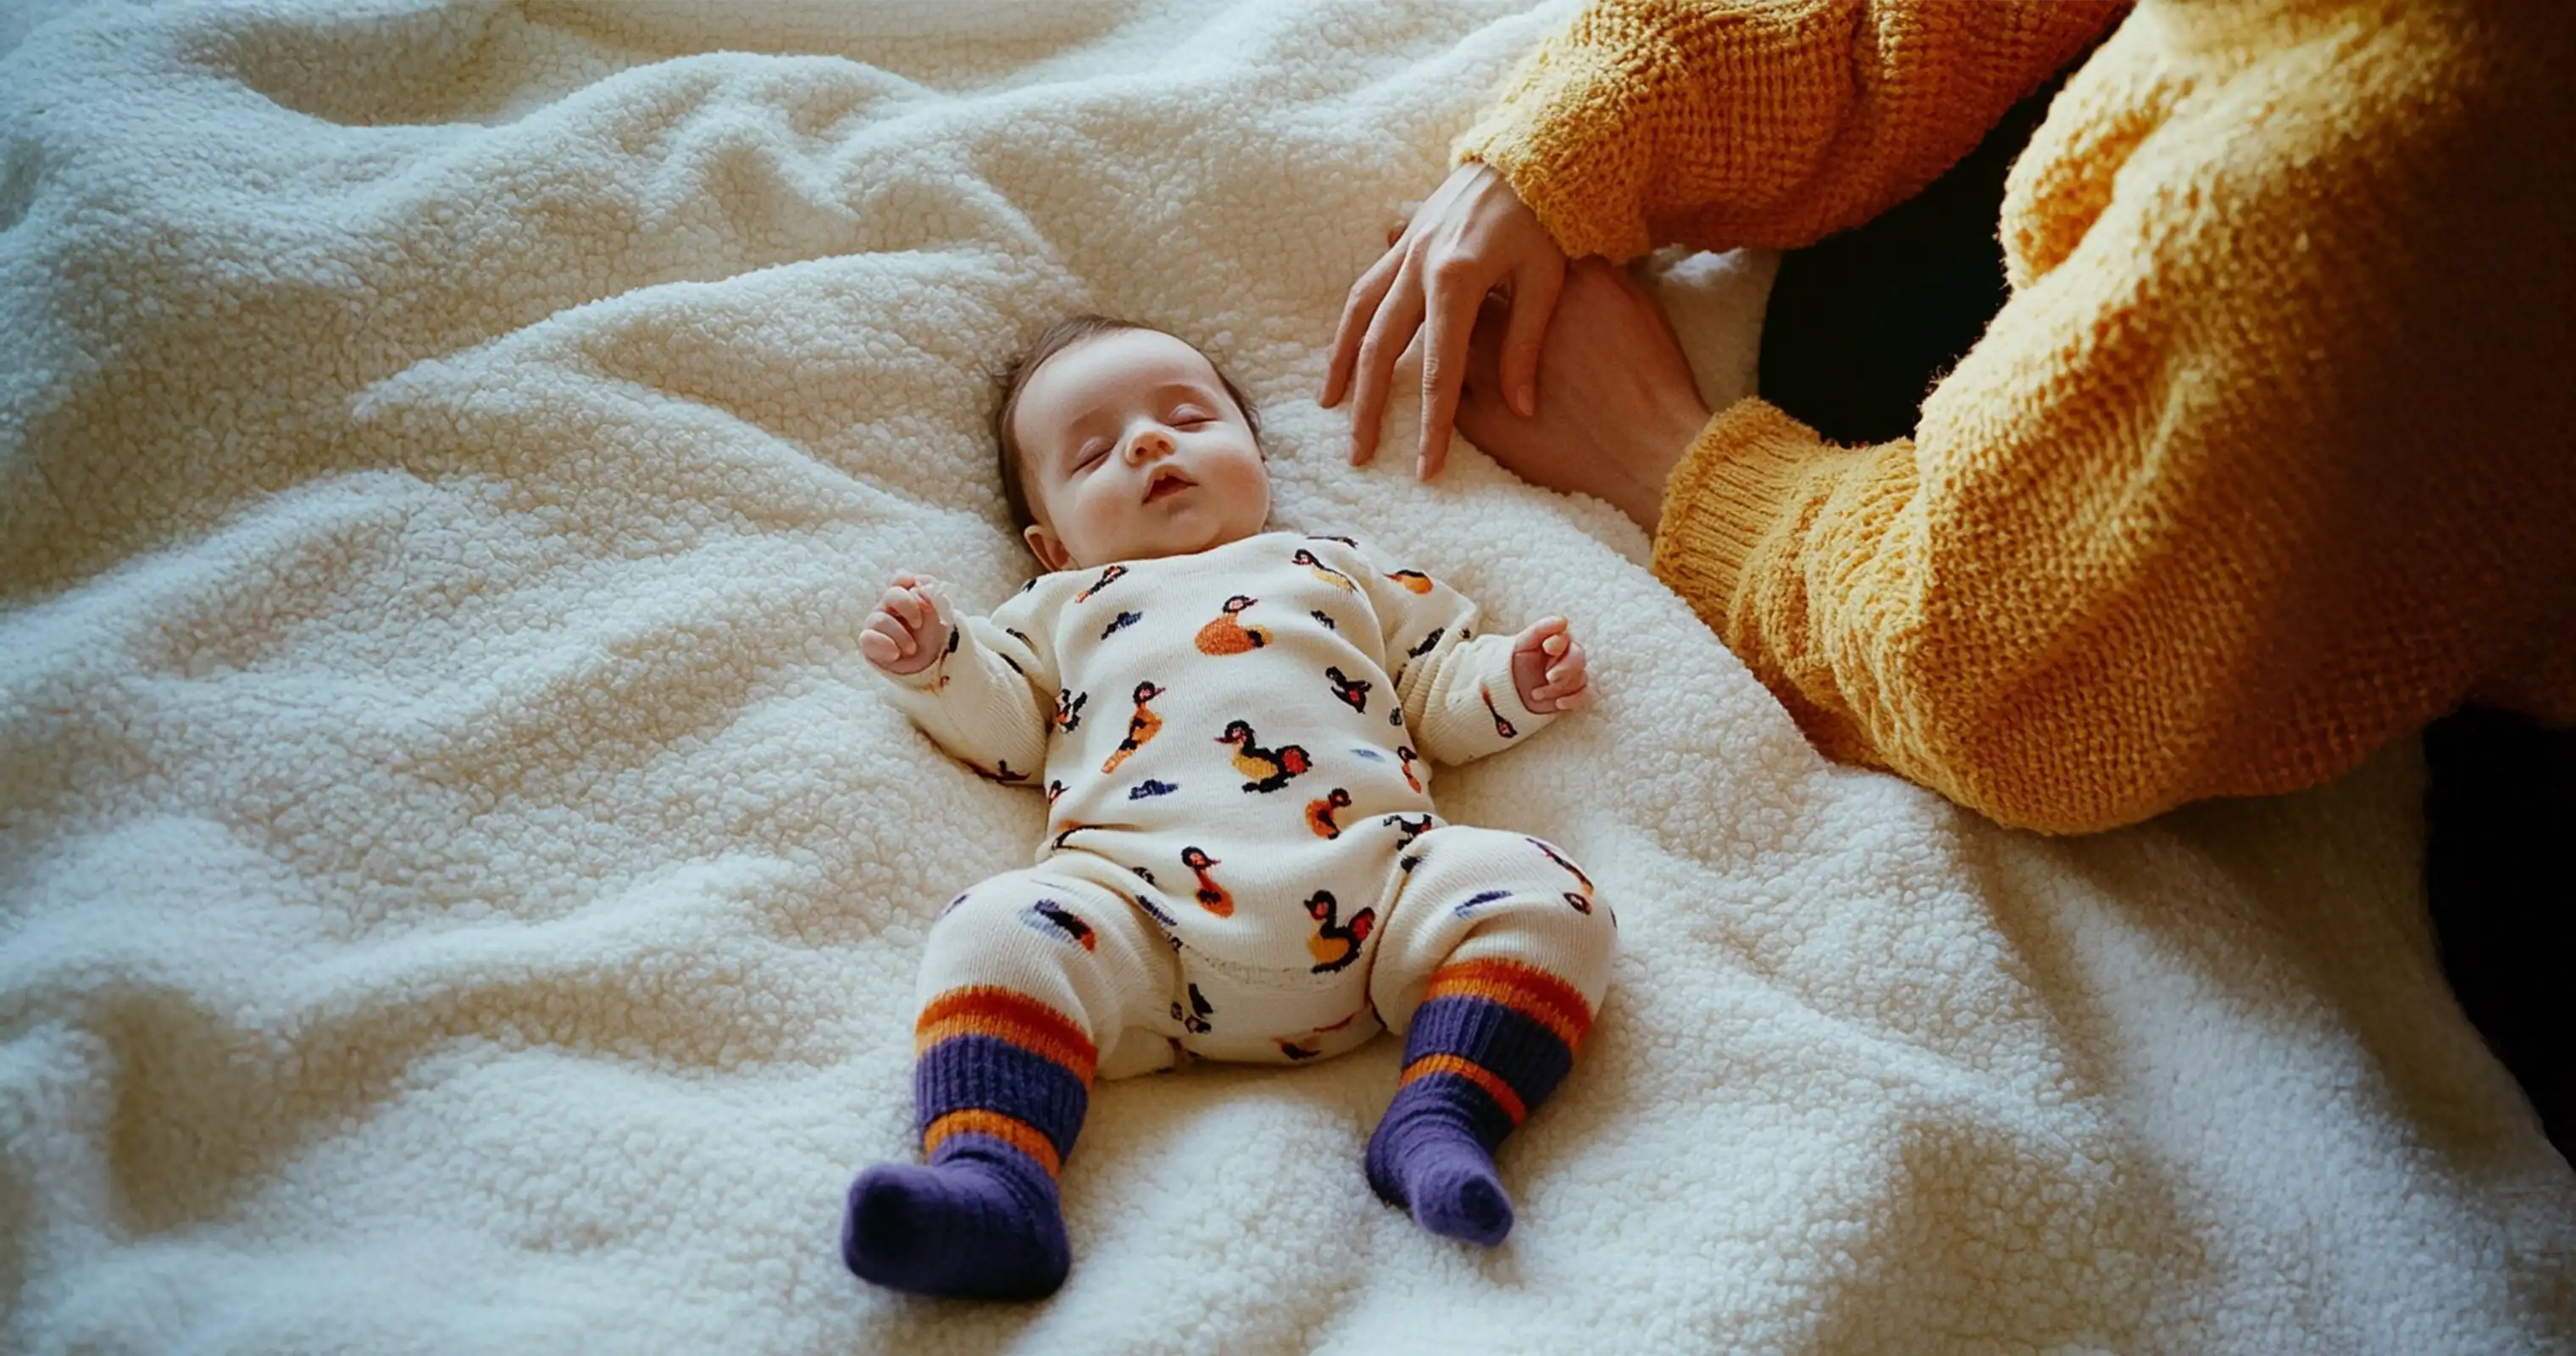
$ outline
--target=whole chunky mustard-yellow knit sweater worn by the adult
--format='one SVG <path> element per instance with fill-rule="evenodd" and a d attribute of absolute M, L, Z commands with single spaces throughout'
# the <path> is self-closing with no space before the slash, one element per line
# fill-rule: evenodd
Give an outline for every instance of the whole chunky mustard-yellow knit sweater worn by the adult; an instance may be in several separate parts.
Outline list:
<path fill-rule="evenodd" d="M 1461 139 L 1574 255 L 1803 245 L 2107 0 L 1595 0 Z M 2009 825 L 2308 786 L 2463 699 L 2576 719 L 2566 0 L 2141 0 L 2014 162 L 1911 441 L 1723 410 L 1654 570 L 1829 755 Z"/>

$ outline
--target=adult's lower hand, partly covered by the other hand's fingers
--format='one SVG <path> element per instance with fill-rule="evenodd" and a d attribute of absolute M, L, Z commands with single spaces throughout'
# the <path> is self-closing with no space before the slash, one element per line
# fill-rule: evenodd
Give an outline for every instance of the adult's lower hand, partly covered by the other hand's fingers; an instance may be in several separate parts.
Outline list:
<path fill-rule="evenodd" d="M 1625 268 L 1577 260 L 1556 299 L 1530 418 L 1502 400 L 1510 340 L 1507 320 L 1486 309 L 1458 431 L 1530 485 L 1595 495 L 1654 536 L 1664 479 L 1708 425 L 1708 402 L 1664 307 Z"/>

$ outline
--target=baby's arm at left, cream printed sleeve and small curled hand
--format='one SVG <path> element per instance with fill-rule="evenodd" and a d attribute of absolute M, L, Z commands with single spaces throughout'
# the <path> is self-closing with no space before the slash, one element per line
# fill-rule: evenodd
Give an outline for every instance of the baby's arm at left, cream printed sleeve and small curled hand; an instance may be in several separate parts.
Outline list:
<path fill-rule="evenodd" d="M 894 704 L 943 750 L 992 781 L 1028 781 L 1046 768 L 1054 678 L 1018 634 L 971 616 L 963 624 L 938 580 L 894 575 L 858 637 Z"/>

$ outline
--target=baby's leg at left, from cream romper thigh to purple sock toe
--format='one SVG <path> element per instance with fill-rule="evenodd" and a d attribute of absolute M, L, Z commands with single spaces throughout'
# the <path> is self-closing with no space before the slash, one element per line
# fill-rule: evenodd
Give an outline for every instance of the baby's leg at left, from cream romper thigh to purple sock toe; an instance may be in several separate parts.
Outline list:
<path fill-rule="evenodd" d="M 927 1163 L 878 1163 L 850 1186 L 850 1271 L 961 1299 L 1054 1294 L 1072 1266 L 1056 1173 L 1092 1075 L 1159 1062 L 1121 1041 L 1162 1044 L 1146 1026 L 1172 969 L 1133 905 L 1064 871 L 994 877 L 948 905 L 912 1029 Z"/>

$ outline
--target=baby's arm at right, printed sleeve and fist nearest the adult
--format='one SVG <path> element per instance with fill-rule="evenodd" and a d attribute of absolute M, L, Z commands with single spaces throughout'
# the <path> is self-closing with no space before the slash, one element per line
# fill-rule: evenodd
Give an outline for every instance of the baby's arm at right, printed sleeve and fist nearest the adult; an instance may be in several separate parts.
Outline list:
<path fill-rule="evenodd" d="M 1512 637 L 1476 634 L 1476 603 L 1419 570 L 1370 562 L 1396 701 L 1422 753 L 1466 763 L 1582 706 L 1584 650 L 1561 616 Z"/>

